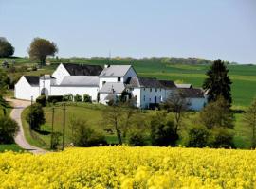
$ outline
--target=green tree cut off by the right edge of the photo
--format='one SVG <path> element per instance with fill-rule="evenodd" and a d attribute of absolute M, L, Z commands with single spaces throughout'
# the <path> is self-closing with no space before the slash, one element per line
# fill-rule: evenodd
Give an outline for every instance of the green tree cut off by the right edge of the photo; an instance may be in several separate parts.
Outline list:
<path fill-rule="evenodd" d="M 248 107 L 247 112 L 245 114 L 245 121 L 247 123 L 247 127 L 251 130 L 252 138 L 251 138 L 251 147 L 256 147 L 256 99 L 253 100 L 251 105 Z"/>

